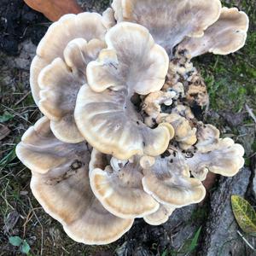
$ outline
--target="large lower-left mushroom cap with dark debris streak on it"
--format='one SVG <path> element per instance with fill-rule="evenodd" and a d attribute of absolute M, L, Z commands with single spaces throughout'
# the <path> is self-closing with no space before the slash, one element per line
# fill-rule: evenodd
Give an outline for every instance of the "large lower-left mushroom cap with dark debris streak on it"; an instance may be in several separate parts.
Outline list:
<path fill-rule="evenodd" d="M 93 195 L 86 143 L 62 143 L 43 118 L 26 132 L 16 152 L 32 170 L 33 195 L 73 240 L 107 244 L 131 228 L 133 219 L 113 216 Z"/>

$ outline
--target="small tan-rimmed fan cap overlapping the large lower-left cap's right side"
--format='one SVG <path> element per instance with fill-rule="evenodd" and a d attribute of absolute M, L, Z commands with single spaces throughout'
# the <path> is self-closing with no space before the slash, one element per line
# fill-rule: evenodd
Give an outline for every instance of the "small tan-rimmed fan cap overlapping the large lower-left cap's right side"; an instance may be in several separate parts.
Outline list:
<path fill-rule="evenodd" d="M 99 160 L 101 154 L 94 154 Z M 90 169 L 90 187 L 103 207 L 119 218 L 139 218 L 157 211 L 159 203 L 143 190 L 142 168 L 138 161 L 126 160 L 125 163 L 112 159 L 110 163 L 113 166 L 103 170 Z"/>

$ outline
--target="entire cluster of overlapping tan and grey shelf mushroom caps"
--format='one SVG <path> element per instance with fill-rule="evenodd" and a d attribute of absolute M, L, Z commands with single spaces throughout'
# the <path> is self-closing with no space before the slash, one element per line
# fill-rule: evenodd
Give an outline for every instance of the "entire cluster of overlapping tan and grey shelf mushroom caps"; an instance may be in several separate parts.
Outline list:
<path fill-rule="evenodd" d="M 114 0 L 49 26 L 30 79 L 44 117 L 16 153 L 68 236 L 107 244 L 135 218 L 163 224 L 204 199 L 207 172 L 239 172 L 241 145 L 191 111 L 209 101 L 191 59 L 240 49 L 247 28 L 218 0 Z"/>

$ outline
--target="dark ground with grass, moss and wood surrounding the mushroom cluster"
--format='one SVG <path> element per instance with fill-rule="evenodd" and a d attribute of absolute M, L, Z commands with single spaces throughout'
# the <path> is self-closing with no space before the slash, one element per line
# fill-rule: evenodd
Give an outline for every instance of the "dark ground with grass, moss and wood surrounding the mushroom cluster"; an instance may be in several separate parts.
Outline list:
<path fill-rule="evenodd" d="M 108 246 L 85 246 L 71 240 L 61 224 L 50 218 L 32 196 L 31 173 L 15 155 L 26 129 L 41 116 L 32 100 L 29 67 L 40 39 L 51 24 L 22 0 L 0 5 L 0 255 L 20 255 L 9 243 L 20 236 L 31 255 L 256 255 L 237 235 L 230 195 L 247 198 L 256 207 L 256 1 L 222 1 L 250 18 L 247 44 L 236 54 L 202 55 L 195 59 L 206 80 L 210 108 L 202 119 L 216 125 L 223 137 L 232 137 L 246 149 L 246 168 L 234 178 L 217 177 L 207 200 L 175 211 L 159 227 L 137 219 L 131 230 Z M 102 12 L 104 0 L 80 0 L 84 10 Z M 254 186 L 253 186 L 254 184 Z M 198 246 L 184 249 L 201 227 Z M 255 247 L 253 237 L 247 237 Z"/>

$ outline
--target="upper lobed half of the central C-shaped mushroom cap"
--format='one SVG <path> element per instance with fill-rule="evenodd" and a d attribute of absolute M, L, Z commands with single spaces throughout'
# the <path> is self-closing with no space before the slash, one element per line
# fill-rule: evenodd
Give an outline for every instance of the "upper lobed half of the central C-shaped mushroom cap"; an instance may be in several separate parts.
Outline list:
<path fill-rule="evenodd" d="M 90 88 L 100 92 L 124 88 L 128 95 L 141 95 L 165 83 L 169 59 L 165 49 L 154 44 L 148 29 L 129 22 L 110 28 L 105 37 L 108 49 L 87 67 Z"/>

